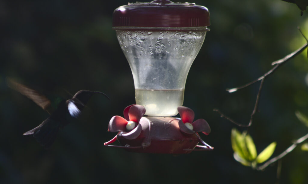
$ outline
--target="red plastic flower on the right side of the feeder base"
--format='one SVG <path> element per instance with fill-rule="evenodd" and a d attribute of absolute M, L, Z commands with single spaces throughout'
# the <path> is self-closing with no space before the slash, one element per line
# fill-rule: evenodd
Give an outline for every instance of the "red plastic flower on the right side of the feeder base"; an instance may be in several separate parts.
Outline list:
<path fill-rule="evenodd" d="M 211 128 L 209 124 L 204 119 L 197 119 L 193 122 L 195 118 L 195 113 L 188 107 L 180 106 L 177 108 L 181 116 L 179 120 L 180 131 L 186 134 L 194 134 L 196 132 L 202 132 L 205 135 L 209 135 Z"/>

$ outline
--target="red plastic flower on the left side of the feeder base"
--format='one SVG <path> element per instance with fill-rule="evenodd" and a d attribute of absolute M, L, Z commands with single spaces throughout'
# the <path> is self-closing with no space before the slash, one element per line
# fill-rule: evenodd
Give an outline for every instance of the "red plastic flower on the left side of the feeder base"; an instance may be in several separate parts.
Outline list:
<path fill-rule="evenodd" d="M 126 107 L 123 113 L 124 118 L 116 115 L 110 119 L 108 131 L 123 131 L 122 135 L 125 139 L 136 139 L 142 130 L 139 121 L 145 113 L 145 108 L 142 105 L 133 104 Z"/>

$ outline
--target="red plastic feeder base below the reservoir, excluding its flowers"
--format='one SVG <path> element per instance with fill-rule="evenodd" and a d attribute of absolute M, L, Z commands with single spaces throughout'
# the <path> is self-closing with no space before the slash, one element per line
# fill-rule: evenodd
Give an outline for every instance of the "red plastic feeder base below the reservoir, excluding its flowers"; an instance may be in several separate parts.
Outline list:
<path fill-rule="evenodd" d="M 140 120 L 142 131 L 136 139 L 125 139 L 122 136 L 123 132 L 119 132 L 116 138 L 122 146 L 106 146 L 122 147 L 127 151 L 139 153 L 167 154 L 184 154 L 213 149 L 197 133 L 192 135 L 182 133 L 178 121 L 178 118 L 173 117 L 142 117 Z M 204 146 L 198 145 L 199 142 Z"/>

